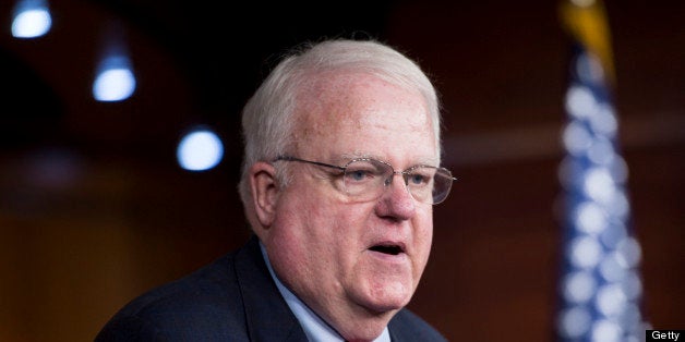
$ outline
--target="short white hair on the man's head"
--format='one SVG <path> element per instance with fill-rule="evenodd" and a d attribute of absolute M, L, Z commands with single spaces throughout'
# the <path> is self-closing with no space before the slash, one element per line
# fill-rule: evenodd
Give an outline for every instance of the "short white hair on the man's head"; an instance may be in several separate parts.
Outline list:
<path fill-rule="evenodd" d="M 339 70 L 371 74 L 405 89 L 418 90 L 432 117 L 441 156 L 437 94 L 417 63 L 374 40 L 336 39 L 309 44 L 278 63 L 242 111 L 244 157 L 239 192 L 244 206 L 251 198 L 249 170 L 252 164 L 272 161 L 287 154 L 293 144 L 293 112 L 299 89 L 322 72 Z M 285 180 L 283 172 L 277 176 Z"/>

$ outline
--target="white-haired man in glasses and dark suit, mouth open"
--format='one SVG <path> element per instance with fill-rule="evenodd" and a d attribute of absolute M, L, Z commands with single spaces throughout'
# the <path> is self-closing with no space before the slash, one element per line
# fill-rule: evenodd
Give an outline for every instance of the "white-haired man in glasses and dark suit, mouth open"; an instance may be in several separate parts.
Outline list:
<path fill-rule="evenodd" d="M 375 41 L 323 41 L 281 61 L 242 120 L 254 237 L 96 340 L 443 341 L 404 308 L 454 180 L 423 72 Z"/>

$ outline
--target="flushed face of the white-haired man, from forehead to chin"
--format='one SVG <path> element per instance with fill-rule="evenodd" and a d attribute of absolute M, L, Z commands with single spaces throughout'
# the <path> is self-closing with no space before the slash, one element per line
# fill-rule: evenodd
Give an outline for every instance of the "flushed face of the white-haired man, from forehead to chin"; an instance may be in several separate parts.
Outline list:
<path fill-rule="evenodd" d="M 320 80 L 298 98 L 293 157 L 336 166 L 370 157 L 396 171 L 437 164 L 418 93 L 363 74 Z M 287 167 L 291 182 L 264 241 L 280 280 L 329 322 L 407 305 L 428 261 L 432 206 L 417 203 L 399 175 L 380 198 L 359 203 L 340 186 L 341 171 Z"/>

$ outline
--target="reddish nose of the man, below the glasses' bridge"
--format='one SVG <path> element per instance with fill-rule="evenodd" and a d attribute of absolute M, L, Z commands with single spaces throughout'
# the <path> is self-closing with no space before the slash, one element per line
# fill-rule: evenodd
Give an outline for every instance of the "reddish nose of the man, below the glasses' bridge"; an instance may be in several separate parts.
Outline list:
<path fill-rule="evenodd" d="M 395 180 L 395 176 L 399 176 L 399 180 Z M 416 200 L 409 193 L 402 174 L 394 173 L 385 181 L 385 191 L 376 205 L 376 213 L 380 217 L 404 221 L 411 219 L 416 211 Z"/>

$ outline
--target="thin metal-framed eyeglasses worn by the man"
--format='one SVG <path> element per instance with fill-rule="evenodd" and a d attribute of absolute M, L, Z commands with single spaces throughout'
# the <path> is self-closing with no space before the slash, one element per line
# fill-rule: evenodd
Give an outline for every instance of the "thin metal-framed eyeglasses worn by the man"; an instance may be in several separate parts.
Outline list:
<path fill-rule="evenodd" d="M 340 170 L 345 192 L 358 201 L 381 197 L 385 188 L 393 183 L 394 175 L 400 174 L 407 190 L 417 201 L 436 205 L 447 198 L 452 182 L 457 180 L 445 168 L 419 164 L 405 171 L 395 171 L 389 163 L 372 158 L 352 159 L 342 167 L 290 156 L 280 156 L 273 161 L 299 161 Z"/>

